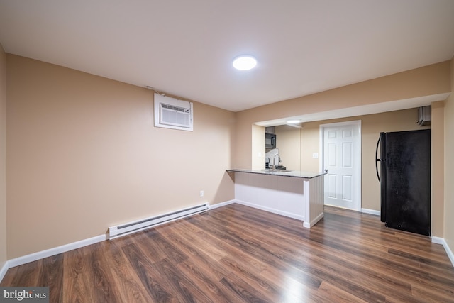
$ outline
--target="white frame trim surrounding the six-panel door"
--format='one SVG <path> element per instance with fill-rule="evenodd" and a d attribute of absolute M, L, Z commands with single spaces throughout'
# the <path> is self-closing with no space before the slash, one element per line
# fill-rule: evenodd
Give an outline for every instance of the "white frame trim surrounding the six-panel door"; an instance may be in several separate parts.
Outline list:
<path fill-rule="evenodd" d="M 331 128 L 331 127 L 338 127 L 338 126 L 346 126 L 346 125 L 352 125 L 355 126 L 356 129 L 358 130 L 358 146 L 353 150 L 353 161 L 355 163 L 355 175 L 358 177 L 356 178 L 356 182 L 353 184 L 353 194 L 356 197 L 356 200 L 358 203 L 356 204 L 355 210 L 362 212 L 362 190 L 361 190 L 361 184 L 362 184 L 362 121 L 361 120 L 355 120 L 355 121 L 345 121 L 345 122 L 337 122 L 337 123 L 326 123 L 326 124 L 320 124 L 319 126 L 319 150 L 321 153 L 321 157 L 319 158 L 319 169 L 321 172 L 324 172 L 325 167 L 323 166 L 324 160 L 325 160 L 325 131 L 326 128 Z"/>

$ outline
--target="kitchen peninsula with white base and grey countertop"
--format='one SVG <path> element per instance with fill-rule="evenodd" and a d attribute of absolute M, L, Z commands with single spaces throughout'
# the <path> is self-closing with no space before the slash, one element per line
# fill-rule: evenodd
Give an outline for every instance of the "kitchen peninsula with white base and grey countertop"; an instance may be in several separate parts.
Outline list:
<path fill-rule="evenodd" d="M 239 204 L 289 216 L 311 228 L 323 218 L 326 172 L 227 170 L 235 182 Z"/>

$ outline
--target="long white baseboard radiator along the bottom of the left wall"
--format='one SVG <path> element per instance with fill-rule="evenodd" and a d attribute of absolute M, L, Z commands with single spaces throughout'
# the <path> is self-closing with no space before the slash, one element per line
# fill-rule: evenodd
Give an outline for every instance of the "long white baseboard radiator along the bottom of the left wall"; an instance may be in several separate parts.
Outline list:
<path fill-rule="evenodd" d="M 126 236 L 137 231 L 143 231 L 144 229 L 157 226 L 165 222 L 175 221 L 177 219 L 182 219 L 186 216 L 191 216 L 193 214 L 200 214 L 201 212 L 207 211 L 208 209 L 209 204 L 206 203 L 191 206 L 188 207 L 187 209 L 180 209 L 179 211 L 172 211 L 170 213 L 162 214 L 159 216 L 153 216 L 147 219 L 133 221 L 127 224 L 111 226 L 109 227 L 109 240 L 121 236 Z"/>

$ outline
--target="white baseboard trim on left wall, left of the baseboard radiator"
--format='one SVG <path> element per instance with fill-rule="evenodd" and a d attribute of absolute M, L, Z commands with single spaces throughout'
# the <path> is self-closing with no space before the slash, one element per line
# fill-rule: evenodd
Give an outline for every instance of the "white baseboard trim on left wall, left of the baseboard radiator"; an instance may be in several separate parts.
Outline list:
<path fill-rule="evenodd" d="M 8 265 L 9 265 L 9 268 L 13 268 L 14 266 L 23 265 L 23 264 L 30 263 L 35 260 L 40 260 L 43 258 L 48 258 L 52 255 L 57 255 L 59 253 L 65 253 L 69 250 L 81 248 L 84 246 L 89 246 L 94 243 L 105 241 L 106 239 L 107 239 L 106 235 L 100 235 L 100 236 L 95 236 L 93 238 L 88 238 L 85 240 L 58 246 L 55 248 L 38 251 L 38 253 L 31 253 L 30 255 L 23 255 L 22 257 L 11 259 L 8 261 Z"/>

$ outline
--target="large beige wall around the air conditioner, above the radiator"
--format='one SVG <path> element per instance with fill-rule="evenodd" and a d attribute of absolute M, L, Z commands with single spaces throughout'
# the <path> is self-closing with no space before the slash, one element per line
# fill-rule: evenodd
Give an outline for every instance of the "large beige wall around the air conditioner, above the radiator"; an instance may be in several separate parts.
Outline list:
<path fill-rule="evenodd" d="M 233 199 L 233 112 L 194 102 L 193 132 L 155 128 L 145 88 L 10 54 L 6 80 L 9 259 Z"/>

